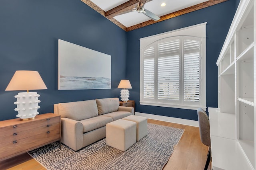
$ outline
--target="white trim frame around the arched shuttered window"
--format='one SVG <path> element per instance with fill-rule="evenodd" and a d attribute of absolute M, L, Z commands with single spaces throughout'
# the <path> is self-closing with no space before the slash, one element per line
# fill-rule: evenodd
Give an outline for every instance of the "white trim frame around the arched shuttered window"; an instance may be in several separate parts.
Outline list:
<path fill-rule="evenodd" d="M 140 39 L 140 104 L 148 105 L 148 106 L 162 106 L 162 107 L 174 107 L 181 109 L 193 109 L 196 110 L 198 107 L 202 107 L 206 109 L 206 23 L 200 23 L 197 25 L 192 25 L 190 27 L 185 27 L 181 29 L 176 29 L 174 31 L 169 31 L 166 33 L 161 33 L 157 35 L 152 35 L 149 37 L 144 37 Z M 201 39 L 202 48 L 201 48 L 201 58 L 200 58 L 200 74 L 201 74 L 201 82 L 200 82 L 200 104 L 199 106 L 194 105 L 181 105 L 181 104 L 166 104 L 166 103 L 156 103 L 156 102 L 148 102 L 143 101 L 143 49 L 150 44 L 155 43 L 161 39 L 165 39 L 168 37 L 175 36 L 193 36 Z"/>

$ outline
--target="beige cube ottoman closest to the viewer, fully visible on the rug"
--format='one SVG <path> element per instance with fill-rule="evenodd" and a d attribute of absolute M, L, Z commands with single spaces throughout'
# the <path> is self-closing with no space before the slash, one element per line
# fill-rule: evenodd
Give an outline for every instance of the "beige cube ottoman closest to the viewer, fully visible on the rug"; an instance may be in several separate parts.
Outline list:
<path fill-rule="evenodd" d="M 136 123 L 118 119 L 106 124 L 106 144 L 126 151 L 136 143 Z"/>

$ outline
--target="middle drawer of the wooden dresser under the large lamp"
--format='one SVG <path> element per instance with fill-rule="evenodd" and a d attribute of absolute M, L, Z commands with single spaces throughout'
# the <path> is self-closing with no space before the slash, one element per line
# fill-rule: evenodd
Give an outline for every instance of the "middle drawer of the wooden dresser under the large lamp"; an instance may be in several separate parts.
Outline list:
<path fill-rule="evenodd" d="M 54 129 L 60 129 L 60 123 L 54 123 L 54 124 L 49 123 L 46 126 L 37 127 L 37 128 L 30 129 L 27 131 L 21 131 L 21 132 L 16 132 L 16 133 L 12 133 L 12 134 L 5 134 L 5 136 L 0 138 L 0 145 L 2 145 L 4 143 L 10 143 L 13 141 L 18 141 L 23 138 L 31 137 L 34 134 L 52 131 Z"/>

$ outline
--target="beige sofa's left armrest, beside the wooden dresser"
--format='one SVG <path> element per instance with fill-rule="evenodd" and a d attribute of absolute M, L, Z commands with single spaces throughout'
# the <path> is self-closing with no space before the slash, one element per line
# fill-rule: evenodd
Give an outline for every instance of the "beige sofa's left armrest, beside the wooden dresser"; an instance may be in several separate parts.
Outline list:
<path fill-rule="evenodd" d="M 61 118 L 61 142 L 75 151 L 83 147 L 84 126 L 81 122 Z"/>

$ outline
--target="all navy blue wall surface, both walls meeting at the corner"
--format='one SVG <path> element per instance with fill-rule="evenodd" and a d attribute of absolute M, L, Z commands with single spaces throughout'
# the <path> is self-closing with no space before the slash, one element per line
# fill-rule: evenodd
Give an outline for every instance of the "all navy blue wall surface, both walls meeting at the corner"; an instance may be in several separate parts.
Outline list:
<path fill-rule="evenodd" d="M 136 111 L 197 120 L 195 111 L 139 105 L 139 38 L 208 22 L 206 25 L 207 107 L 217 107 L 216 60 L 239 0 L 228 0 L 196 12 L 126 33 L 80 0 L 1 0 L 0 2 L 0 120 L 16 118 L 18 91 L 4 91 L 16 70 L 37 70 L 47 90 L 40 94 L 41 113 L 53 104 L 119 97 L 120 79 L 130 79 L 130 99 Z M 58 90 L 58 39 L 112 56 L 112 88 Z"/>

